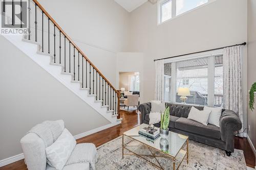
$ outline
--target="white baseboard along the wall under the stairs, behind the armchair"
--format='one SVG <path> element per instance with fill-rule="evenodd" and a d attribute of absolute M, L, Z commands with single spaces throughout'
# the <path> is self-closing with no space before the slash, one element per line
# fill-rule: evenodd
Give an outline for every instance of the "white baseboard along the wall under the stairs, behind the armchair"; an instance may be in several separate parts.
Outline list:
<path fill-rule="evenodd" d="M 105 126 L 102 126 L 102 127 L 99 127 L 99 128 L 93 129 L 93 130 L 90 130 L 88 132 L 84 132 L 84 133 L 75 135 L 74 138 L 75 139 L 80 139 L 82 137 L 91 135 L 93 133 L 102 131 L 104 129 L 108 129 L 110 127 L 116 126 L 116 125 L 118 125 L 120 123 L 121 123 L 121 121 L 117 121 L 116 123 L 111 123 L 111 124 L 108 124 L 108 125 L 105 125 Z M 0 160 L 0 167 L 8 165 L 8 164 L 11 164 L 13 162 L 16 162 L 16 161 L 19 161 L 19 160 L 22 160 L 22 159 L 24 159 L 24 154 L 23 153 L 15 155 L 15 156 L 12 156 L 12 157 L 9 157 L 9 158 L 6 158 L 6 159 L 3 159 L 3 160 Z"/>

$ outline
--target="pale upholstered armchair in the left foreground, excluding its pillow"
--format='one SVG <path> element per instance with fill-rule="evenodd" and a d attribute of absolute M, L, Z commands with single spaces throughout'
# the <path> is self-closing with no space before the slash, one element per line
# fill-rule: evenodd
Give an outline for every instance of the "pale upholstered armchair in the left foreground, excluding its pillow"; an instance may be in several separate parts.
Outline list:
<path fill-rule="evenodd" d="M 65 129 L 63 120 L 46 121 L 33 127 L 21 140 L 28 170 L 56 170 L 47 163 L 46 148 Z M 95 169 L 97 152 L 93 143 L 76 144 L 62 170 Z"/>

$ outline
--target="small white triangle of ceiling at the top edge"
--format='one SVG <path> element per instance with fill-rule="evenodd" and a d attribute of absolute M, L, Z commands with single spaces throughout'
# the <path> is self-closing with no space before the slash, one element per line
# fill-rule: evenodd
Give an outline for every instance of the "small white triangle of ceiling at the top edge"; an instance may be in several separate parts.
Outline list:
<path fill-rule="evenodd" d="M 132 12 L 133 10 L 147 2 L 147 0 L 115 0 L 115 2 L 122 6 L 126 11 Z"/>

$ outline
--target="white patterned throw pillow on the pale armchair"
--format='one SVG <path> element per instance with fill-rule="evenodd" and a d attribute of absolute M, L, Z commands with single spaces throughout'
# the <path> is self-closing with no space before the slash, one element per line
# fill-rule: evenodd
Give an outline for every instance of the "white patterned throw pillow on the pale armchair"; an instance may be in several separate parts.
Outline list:
<path fill-rule="evenodd" d="M 61 170 L 68 161 L 75 146 L 75 138 L 67 129 L 64 129 L 57 140 L 50 147 L 46 148 L 48 164 L 57 170 Z"/>

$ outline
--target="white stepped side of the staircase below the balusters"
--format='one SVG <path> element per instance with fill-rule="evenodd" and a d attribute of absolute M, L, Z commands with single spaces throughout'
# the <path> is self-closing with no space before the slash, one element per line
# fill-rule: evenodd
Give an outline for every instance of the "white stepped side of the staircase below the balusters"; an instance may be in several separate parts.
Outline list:
<path fill-rule="evenodd" d="M 95 102 L 95 96 L 88 96 L 88 90 L 80 90 L 81 83 L 76 82 L 72 83 L 72 75 L 63 74 L 63 66 L 61 64 L 50 64 L 52 62 L 52 58 L 48 53 L 40 53 L 38 52 L 38 43 L 32 42 L 28 40 L 23 40 L 23 36 L 8 36 L 5 35 L 9 41 L 11 41 L 14 45 L 16 45 L 19 50 L 23 51 L 28 57 L 30 57 L 34 62 L 44 68 L 49 72 L 54 78 L 56 78 L 59 82 L 65 85 L 68 89 L 74 92 L 80 99 L 90 105 L 93 109 L 95 109 L 98 113 L 100 113 L 103 117 L 108 119 L 111 123 L 115 123 L 117 121 L 116 116 L 112 116 L 113 112 L 107 112 L 108 107 L 102 107 L 102 103 Z M 30 43 L 29 43 L 30 42 Z"/>

